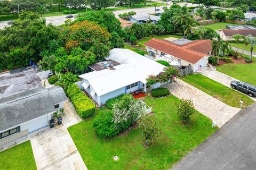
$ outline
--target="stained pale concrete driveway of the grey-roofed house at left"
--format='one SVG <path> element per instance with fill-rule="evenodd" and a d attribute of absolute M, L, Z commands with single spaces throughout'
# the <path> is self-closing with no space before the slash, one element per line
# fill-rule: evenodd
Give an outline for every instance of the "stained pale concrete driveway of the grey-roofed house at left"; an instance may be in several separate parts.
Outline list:
<path fill-rule="evenodd" d="M 64 125 L 29 136 L 37 169 L 87 169 Z"/>

